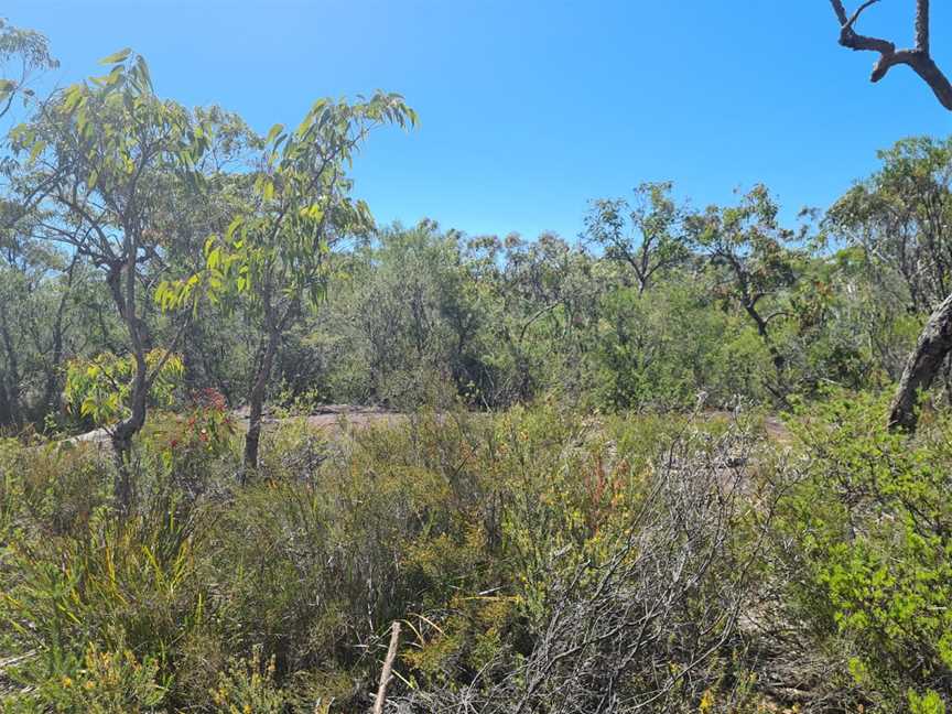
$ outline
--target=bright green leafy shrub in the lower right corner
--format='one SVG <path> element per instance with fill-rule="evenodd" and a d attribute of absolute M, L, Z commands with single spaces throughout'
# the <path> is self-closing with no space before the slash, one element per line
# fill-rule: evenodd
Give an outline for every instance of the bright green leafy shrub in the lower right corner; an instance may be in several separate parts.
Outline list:
<path fill-rule="evenodd" d="M 896 711 L 907 696 L 952 696 L 952 453 L 945 415 L 910 443 L 886 430 L 883 407 L 850 396 L 804 411 L 809 452 L 783 529 L 801 616 L 840 638 L 856 684 Z"/>

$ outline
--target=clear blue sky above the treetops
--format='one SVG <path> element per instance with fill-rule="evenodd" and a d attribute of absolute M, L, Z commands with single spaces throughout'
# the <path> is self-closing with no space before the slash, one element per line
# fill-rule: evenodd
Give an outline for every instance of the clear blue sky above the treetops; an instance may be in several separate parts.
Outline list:
<path fill-rule="evenodd" d="M 847 6 L 855 4 L 847 0 Z M 912 0 L 863 30 L 901 44 Z M 158 91 L 219 104 L 266 131 L 321 96 L 383 88 L 421 117 L 374 137 L 357 193 L 379 221 L 573 238 L 586 202 L 672 180 L 695 205 L 767 183 L 788 215 L 825 207 L 875 152 L 952 132 L 952 112 L 905 67 L 836 44 L 827 0 L 8 0 L 44 32 L 62 83 L 131 46 Z M 952 72 L 952 2 L 933 3 Z M 948 31 L 944 31 L 949 29 Z"/>

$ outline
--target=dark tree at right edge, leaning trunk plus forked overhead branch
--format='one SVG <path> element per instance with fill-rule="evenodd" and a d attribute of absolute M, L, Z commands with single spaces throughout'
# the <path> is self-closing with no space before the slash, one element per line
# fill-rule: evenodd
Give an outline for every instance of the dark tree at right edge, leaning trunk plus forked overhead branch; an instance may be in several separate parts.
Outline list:
<path fill-rule="evenodd" d="M 851 50 L 879 53 L 879 60 L 873 67 L 872 82 L 883 79 L 896 65 L 905 64 L 911 67 L 932 89 L 939 104 L 952 111 L 952 83 L 932 58 L 929 0 L 916 0 L 916 45 L 908 50 L 897 50 L 892 42 L 856 32 L 855 25 L 859 15 L 877 1 L 866 0 L 850 15 L 842 0 L 830 0 L 836 20 L 840 22 L 840 44 Z M 919 392 L 932 385 L 950 351 L 952 351 L 952 294 L 945 298 L 929 316 L 919 335 L 916 349 L 906 363 L 889 409 L 888 421 L 891 428 L 915 431 L 919 419 L 917 413 Z"/>

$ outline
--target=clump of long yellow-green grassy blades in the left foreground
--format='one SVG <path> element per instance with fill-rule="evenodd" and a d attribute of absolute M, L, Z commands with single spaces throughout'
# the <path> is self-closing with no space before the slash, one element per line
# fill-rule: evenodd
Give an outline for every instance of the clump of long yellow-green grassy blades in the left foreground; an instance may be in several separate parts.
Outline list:
<path fill-rule="evenodd" d="M 170 497 L 125 521 L 101 510 L 83 530 L 9 545 L 0 618 L 14 632 L 14 652 L 36 652 L 17 679 L 32 686 L 76 679 L 77 662 L 96 647 L 115 662 L 129 649 L 170 689 L 177 651 L 214 621 L 198 582 L 205 528 L 203 513 Z"/>

